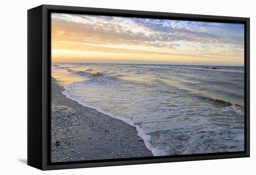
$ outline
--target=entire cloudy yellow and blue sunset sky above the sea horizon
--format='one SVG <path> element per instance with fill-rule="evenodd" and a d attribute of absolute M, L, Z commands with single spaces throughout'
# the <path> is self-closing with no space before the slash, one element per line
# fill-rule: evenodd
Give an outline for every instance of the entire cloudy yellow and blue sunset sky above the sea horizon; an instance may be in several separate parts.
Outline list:
<path fill-rule="evenodd" d="M 52 13 L 52 62 L 244 65 L 244 25 Z"/>

